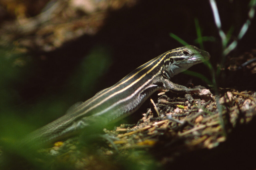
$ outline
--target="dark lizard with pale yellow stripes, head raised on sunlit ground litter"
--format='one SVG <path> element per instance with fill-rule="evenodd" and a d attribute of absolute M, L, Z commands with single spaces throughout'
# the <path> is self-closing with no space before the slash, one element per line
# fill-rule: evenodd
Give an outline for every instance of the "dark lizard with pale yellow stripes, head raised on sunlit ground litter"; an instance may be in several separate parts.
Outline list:
<path fill-rule="evenodd" d="M 210 54 L 189 45 L 167 51 L 148 61 L 113 86 L 101 90 L 85 102 L 75 104 L 59 119 L 35 130 L 25 141 L 50 143 L 86 130 L 92 125 L 106 125 L 134 113 L 160 88 L 174 93 L 195 93 L 170 79 L 189 67 L 209 60 Z"/>

